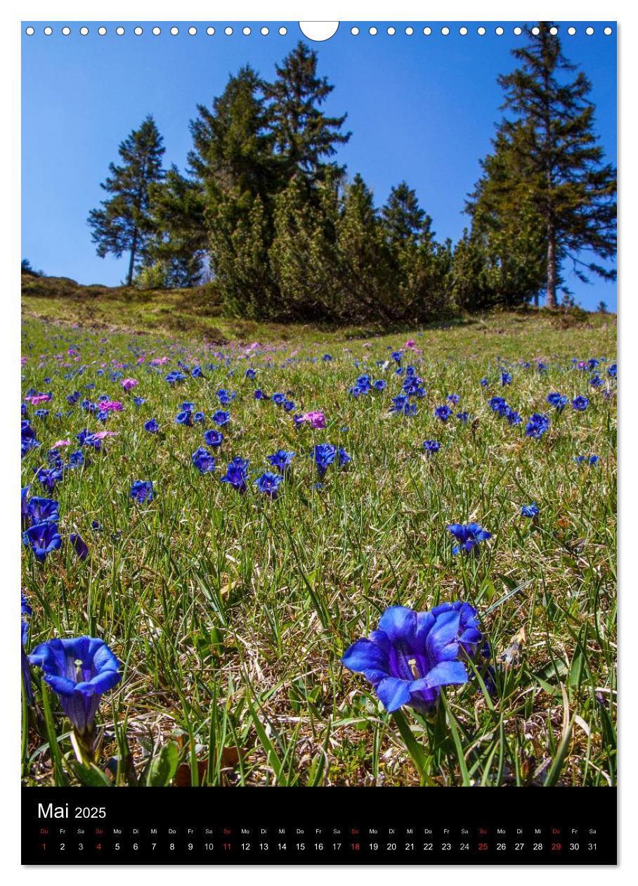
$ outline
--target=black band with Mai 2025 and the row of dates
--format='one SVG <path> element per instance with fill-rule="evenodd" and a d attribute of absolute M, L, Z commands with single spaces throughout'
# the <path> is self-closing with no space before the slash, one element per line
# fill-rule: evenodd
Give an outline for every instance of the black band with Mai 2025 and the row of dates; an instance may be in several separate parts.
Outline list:
<path fill-rule="evenodd" d="M 22 789 L 22 863 L 613 865 L 615 788 Z"/>

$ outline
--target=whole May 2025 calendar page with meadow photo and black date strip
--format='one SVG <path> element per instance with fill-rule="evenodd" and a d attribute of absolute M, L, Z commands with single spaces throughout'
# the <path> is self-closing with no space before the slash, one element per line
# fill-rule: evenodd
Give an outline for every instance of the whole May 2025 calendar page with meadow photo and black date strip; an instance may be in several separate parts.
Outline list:
<path fill-rule="evenodd" d="M 616 22 L 19 27 L 23 864 L 615 864 Z"/>

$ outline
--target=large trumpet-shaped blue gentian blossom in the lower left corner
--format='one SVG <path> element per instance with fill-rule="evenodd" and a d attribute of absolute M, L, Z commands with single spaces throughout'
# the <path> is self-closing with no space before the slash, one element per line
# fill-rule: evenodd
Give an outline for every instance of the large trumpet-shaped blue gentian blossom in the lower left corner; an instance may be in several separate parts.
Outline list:
<path fill-rule="evenodd" d="M 119 683 L 119 661 L 104 640 L 74 637 L 36 646 L 29 662 L 42 668 L 75 730 L 88 734 L 100 697 Z"/>

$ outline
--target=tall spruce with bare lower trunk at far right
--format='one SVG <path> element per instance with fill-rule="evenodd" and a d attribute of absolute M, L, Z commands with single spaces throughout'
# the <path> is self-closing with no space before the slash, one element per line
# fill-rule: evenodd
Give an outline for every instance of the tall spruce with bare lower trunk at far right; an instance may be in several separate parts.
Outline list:
<path fill-rule="evenodd" d="M 591 84 L 582 72 L 573 75 L 551 27 L 540 22 L 538 35 L 528 30 L 527 46 L 513 51 L 519 67 L 498 79 L 511 116 L 497 137 L 509 145 L 511 165 L 496 211 L 507 214 L 527 191 L 527 211 L 542 223 L 547 304 L 557 307 L 565 260 L 583 281 L 589 273 L 615 277 L 595 257 L 616 254 L 616 170 L 597 143 Z M 587 253 L 591 260 L 583 259 Z"/>

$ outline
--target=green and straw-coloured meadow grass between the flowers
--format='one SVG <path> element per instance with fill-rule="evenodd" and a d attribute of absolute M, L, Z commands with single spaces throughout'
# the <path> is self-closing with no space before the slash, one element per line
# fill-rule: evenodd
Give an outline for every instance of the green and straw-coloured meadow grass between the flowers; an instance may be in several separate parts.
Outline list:
<path fill-rule="evenodd" d="M 63 538 L 80 532 L 90 556 L 82 563 L 68 542 L 42 565 L 27 550 L 23 555 L 23 586 L 34 608 L 30 646 L 89 633 L 104 638 L 123 663 L 123 679 L 104 696 L 99 714 L 102 769 L 108 758 L 119 758 L 111 770 L 119 782 L 131 781 L 150 758 L 156 769 L 173 760 L 172 744 L 161 760 L 157 755 L 175 742 L 180 783 L 615 783 L 616 404 L 604 389 L 589 388 L 591 373 L 571 362 L 614 359 L 613 317 L 590 316 L 582 324 L 534 312 L 503 314 L 409 336 L 358 330 L 368 338 L 356 338 L 354 329 L 243 327 L 214 316 L 200 318 L 188 340 L 175 332 L 173 319 L 155 325 L 160 307 L 152 299 L 109 298 L 96 297 L 88 316 L 81 296 L 27 295 L 22 352 L 24 389 L 54 394 L 44 404 L 50 416 L 33 419 L 42 447 L 23 460 L 23 485 L 34 482 L 55 440 L 97 429 L 79 406 L 67 407 L 66 394 L 77 389 L 92 400 L 101 393 L 125 400 L 124 411 L 106 425 L 119 436 L 86 467 L 68 471 L 53 495 Z M 185 297 L 163 298 L 166 307 Z M 231 340 L 221 349 L 226 363 L 214 355 L 219 347 L 202 344 L 200 323 L 214 324 L 218 340 L 269 344 L 247 360 Z M 427 389 L 411 418 L 388 415 L 401 379 L 377 367 L 388 347 L 406 338 L 422 350 L 406 361 Z M 72 367 L 87 367 L 75 378 L 65 378 L 70 368 L 55 358 L 70 345 L 81 354 Z M 135 365 L 132 348 L 147 361 L 165 354 L 171 361 L 150 373 L 147 364 Z M 331 362 L 320 360 L 327 351 Z M 511 361 L 512 384 L 503 391 L 497 357 Z M 164 375 L 176 359 L 201 363 L 206 378 L 172 389 Z M 548 371 L 518 363 L 535 359 L 547 362 Z M 134 393 L 145 398 L 143 406 L 121 393 L 108 369 L 96 377 L 111 360 L 128 364 L 124 375 L 139 380 Z M 206 369 L 211 362 L 218 369 Z M 258 369 L 254 382 L 244 377 L 249 365 Z M 355 399 L 349 387 L 365 371 L 385 378 L 388 389 Z M 488 392 L 480 386 L 484 376 L 492 381 Z M 94 382 L 95 389 L 83 390 Z M 174 416 L 183 400 L 210 416 L 221 387 L 237 392 L 233 418 L 222 429 L 218 470 L 201 476 L 190 455 L 213 425 L 182 427 Z M 296 430 L 281 408 L 253 399 L 255 387 L 289 393 L 298 412 L 323 409 L 327 429 Z M 550 414 L 550 391 L 570 400 L 587 394 L 591 403 L 584 413 L 568 407 L 562 416 L 552 414 L 539 440 L 527 439 L 525 424 L 512 428 L 488 408 L 489 396 L 503 393 L 524 418 Z M 474 425 L 434 419 L 434 406 L 450 392 L 460 394 L 458 408 L 475 416 Z M 150 417 L 158 419 L 161 438 L 143 431 Z M 442 442 L 429 460 L 421 447 L 427 438 Z M 352 461 L 348 470 L 328 470 L 318 490 L 308 452 L 323 441 L 344 447 Z M 278 500 L 268 501 L 252 484 L 241 496 L 219 482 L 230 458 L 248 457 L 260 473 L 268 468 L 265 456 L 279 448 L 297 455 Z M 595 467 L 573 461 L 590 453 L 600 456 Z M 129 498 L 135 479 L 153 480 L 150 504 Z M 36 482 L 32 493 L 46 494 Z M 538 525 L 520 517 L 520 505 L 530 501 L 541 509 Z M 452 556 L 446 525 L 472 519 L 493 539 L 476 556 Z M 92 520 L 102 532 L 91 530 Z M 479 673 L 465 687 L 449 688 L 434 718 L 404 708 L 404 723 L 397 722 L 340 657 L 388 606 L 426 610 L 456 599 L 480 611 L 496 695 L 481 691 Z M 500 657 L 521 628 L 519 661 L 505 668 Z M 56 770 L 64 766 L 58 780 L 88 781 L 73 766 L 68 722 L 53 695 L 50 705 L 62 755 L 54 755 Z M 40 688 L 28 723 L 24 780 L 53 783 Z M 406 728 L 412 756 L 402 738 Z"/>

